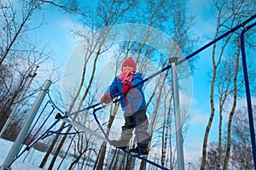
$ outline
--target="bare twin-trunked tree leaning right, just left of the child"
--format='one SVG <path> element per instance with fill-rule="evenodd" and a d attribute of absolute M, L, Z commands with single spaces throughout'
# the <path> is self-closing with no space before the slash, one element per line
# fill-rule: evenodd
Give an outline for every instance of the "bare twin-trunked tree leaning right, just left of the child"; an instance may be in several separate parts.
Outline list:
<path fill-rule="evenodd" d="M 82 104 L 84 102 L 84 99 L 86 98 L 87 94 L 90 91 L 92 82 L 94 81 L 95 77 L 95 71 L 96 71 L 96 63 L 98 59 L 100 59 L 100 55 L 104 53 L 105 50 L 107 50 L 109 47 L 105 47 L 105 40 L 108 37 L 108 32 L 111 30 L 111 28 L 116 22 L 120 20 L 120 17 L 123 16 L 127 11 L 130 10 L 130 8 L 134 5 L 134 1 L 127 1 L 127 2 L 112 2 L 108 3 L 105 1 L 102 1 L 100 3 L 100 6 L 97 8 L 97 17 L 95 17 L 95 13 L 91 13 L 90 19 L 92 21 L 92 26 L 90 26 L 90 33 L 85 32 L 85 34 L 80 34 L 80 31 L 77 31 L 78 35 L 81 35 L 85 38 L 86 42 L 89 42 L 90 46 L 84 50 L 84 70 L 83 74 L 81 77 L 81 82 L 79 84 L 79 90 L 77 91 L 75 97 L 73 98 L 73 102 L 70 105 L 68 109 L 68 113 L 70 113 L 73 110 L 73 107 L 75 103 L 77 102 L 77 99 L 79 97 L 79 94 L 81 94 L 81 89 L 84 86 L 84 78 L 86 74 L 86 68 L 88 66 L 88 61 L 89 59 L 93 59 L 93 69 L 90 71 L 90 81 L 86 85 L 85 92 L 82 96 L 82 99 L 79 102 L 78 110 L 81 109 Z M 85 23 L 86 25 L 88 24 L 87 22 Z M 102 29 L 101 35 L 96 35 L 95 29 L 101 28 L 102 26 L 105 26 Z M 94 56 L 94 54 L 96 54 Z M 77 116 L 77 115 L 76 115 Z M 75 116 L 75 117 L 76 117 Z M 74 118 L 75 118 L 74 117 Z M 61 127 L 64 127 L 65 123 L 62 123 Z M 71 130 L 71 127 L 67 129 L 67 133 Z M 53 144 L 51 145 L 51 149 L 53 148 L 56 140 L 58 139 L 59 136 L 55 137 L 55 140 Z M 66 136 L 64 136 L 61 139 L 61 144 L 58 144 L 57 150 L 55 151 L 55 156 L 53 157 L 49 168 L 52 168 L 55 163 L 55 159 L 58 155 L 59 150 L 61 150 L 62 144 L 64 144 L 64 141 L 66 140 Z M 44 160 L 42 161 L 40 167 L 44 167 L 44 163 L 46 162 L 48 156 L 49 156 L 50 150 L 48 151 L 47 155 L 44 156 Z"/>

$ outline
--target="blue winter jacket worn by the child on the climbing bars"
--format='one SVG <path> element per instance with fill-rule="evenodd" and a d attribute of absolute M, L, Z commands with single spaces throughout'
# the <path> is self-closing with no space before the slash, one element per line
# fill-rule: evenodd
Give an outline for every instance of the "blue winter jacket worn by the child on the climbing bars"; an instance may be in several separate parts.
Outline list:
<path fill-rule="evenodd" d="M 143 76 L 141 73 L 137 72 L 131 80 L 131 83 L 133 85 L 136 85 L 139 82 L 143 81 Z M 113 82 L 111 83 L 111 85 L 108 87 L 108 90 L 106 91 L 105 94 L 112 94 L 112 95 L 116 95 L 116 94 L 121 94 L 120 97 L 122 98 L 120 100 L 120 105 L 122 107 L 122 110 L 125 111 L 125 113 L 134 113 L 136 111 L 140 111 L 143 110 L 146 107 L 146 101 L 145 101 L 145 96 L 143 93 L 143 85 L 144 83 L 141 83 L 140 85 L 138 85 L 136 88 L 134 89 L 130 89 L 128 94 L 125 95 L 122 94 L 122 88 L 123 88 L 123 84 L 121 82 L 121 80 L 119 79 L 119 77 L 114 77 Z M 130 105 L 130 107 L 128 108 L 127 106 Z"/>

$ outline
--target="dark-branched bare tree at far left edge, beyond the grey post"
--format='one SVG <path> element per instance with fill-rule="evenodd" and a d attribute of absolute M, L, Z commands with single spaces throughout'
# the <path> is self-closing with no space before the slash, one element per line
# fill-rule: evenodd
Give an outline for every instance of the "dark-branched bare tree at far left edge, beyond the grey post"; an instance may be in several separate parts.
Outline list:
<path fill-rule="evenodd" d="M 25 90 L 28 82 L 32 79 L 32 72 L 49 59 L 49 49 L 46 43 L 34 40 L 29 35 L 30 31 L 38 26 L 30 26 L 32 14 L 40 9 L 38 2 L 0 2 L 0 65 L 1 65 L 1 111 L 0 121 L 9 116 L 14 105 L 22 103 L 19 99 L 21 92 Z M 42 19 L 43 22 L 43 19 Z M 32 96 L 35 90 L 31 90 Z"/>

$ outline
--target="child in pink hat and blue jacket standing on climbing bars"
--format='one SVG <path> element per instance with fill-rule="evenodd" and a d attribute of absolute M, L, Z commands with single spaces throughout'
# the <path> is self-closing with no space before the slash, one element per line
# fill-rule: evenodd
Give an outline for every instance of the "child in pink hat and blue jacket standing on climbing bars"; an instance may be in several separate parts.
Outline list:
<path fill-rule="evenodd" d="M 136 88 L 132 88 L 138 82 L 143 81 L 142 74 L 137 71 L 137 65 L 133 59 L 125 59 L 122 65 L 122 73 L 115 77 L 108 87 L 106 93 L 102 96 L 101 102 L 108 104 L 112 102 L 113 95 L 124 94 L 120 96 L 120 105 L 124 111 L 125 125 L 122 127 L 122 133 L 119 140 L 112 140 L 113 146 L 120 149 L 127 149 L 132 136 L 134 127 L 137 127 L 137 143 L 143 155 L 148 155 L 148 117 L 146 116 L 146 101 L 143 94 L 143 83 Z M 134 114 L 134 115 L 133 115 Z M 135 120 L 134 120 L 135 118 Z M 135 126 L 135 123 L 137 126 Z M 131 150 L 138 152 L 138 146 Z"/>

